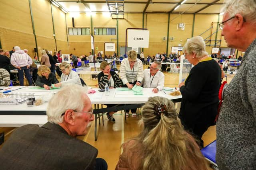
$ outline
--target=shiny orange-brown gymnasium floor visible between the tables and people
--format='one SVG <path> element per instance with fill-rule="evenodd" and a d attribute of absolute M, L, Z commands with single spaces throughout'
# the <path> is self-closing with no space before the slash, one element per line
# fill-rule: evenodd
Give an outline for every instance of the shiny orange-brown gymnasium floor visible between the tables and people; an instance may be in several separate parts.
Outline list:
<path fill-rule="evenodd" d="M 119 68 L 120 65 L 117 67 Z M 148 68 L 148 65 L 144 65 L 144 69 Z M 167 87 L 178 87 L 179 74 L 164 72 L 165 83 Z M 230 74 L 227 76 L 227 81 L 230 82 L 234 75 Z M 84 76 L 84 81 L 88 86 L 95 88 L 98 80 L 92 80 L 89 75 Z M 116 123 L 108 121 L 106 115 L 104 115 L 104 126 L 98 125 L 98 140 L 94 141 L 94 121 L 91 122 L 91 126 L 88 128 L 88 134 L 86 136 L 80 136 L 81 139 L 90 145 L 98 149 L 98 157 L 104 158 L 108 163 L 108 169 L 114 170 L 121 154 L 121 145 L 124 141 L 135 137 L 141 130 L 137 123 L 141 117 L 132 118 L 131 116 L 124 122 L 124 116 L 121 111 L 114 114 Z M 6 140 L 12 133 L 10 127 L 2 127 L 1 131 L 7 131 Z M 216 126 L 209 127 L 206 133 L 202 137 L 204 145 L 208 145 L 216 139 Z M 4 144 L 3 144 L 4 145 Z M 1 148 L 2 145 L 0 145 Z"/>

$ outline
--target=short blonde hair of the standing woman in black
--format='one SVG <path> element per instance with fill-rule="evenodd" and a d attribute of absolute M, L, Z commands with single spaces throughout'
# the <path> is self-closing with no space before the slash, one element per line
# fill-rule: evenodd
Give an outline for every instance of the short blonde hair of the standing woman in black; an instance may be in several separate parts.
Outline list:
<path fill-rule="evenodd" d="M 184 45 L 182 51 L 186 51 L 188 54 L 196 53 L 197 58 L 208 55 L 205 51 L 204 39 L 200 36 L 190 38 Z"/>

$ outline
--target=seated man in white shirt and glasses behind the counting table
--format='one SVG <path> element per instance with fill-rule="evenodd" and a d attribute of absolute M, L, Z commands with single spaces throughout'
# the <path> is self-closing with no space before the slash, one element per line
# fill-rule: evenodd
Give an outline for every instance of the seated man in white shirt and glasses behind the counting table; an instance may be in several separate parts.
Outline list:
<path fill-rule="evenodd" d="M 164 73 L 160 71 L 161 63 L 155 61 L 150 69 L 144 70 L 144 88 L 153 88 L 152 92 L 157 93 L 164 89 Z"/>

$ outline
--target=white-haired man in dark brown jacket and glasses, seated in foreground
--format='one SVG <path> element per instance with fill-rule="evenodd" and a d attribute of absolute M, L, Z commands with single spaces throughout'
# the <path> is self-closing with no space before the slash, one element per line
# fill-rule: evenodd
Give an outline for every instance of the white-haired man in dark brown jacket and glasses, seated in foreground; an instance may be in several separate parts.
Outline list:
<path fill-rule="evenodd" d="M 86 89 L 77 84 L 63 87 L 48 102 L 48 122 L 42 127 L 24 125 L 16 129 L 0 150 L 1 169 L 107 170 L 98 150 L 76 139 L 86 135 L 94 121 Z"/>

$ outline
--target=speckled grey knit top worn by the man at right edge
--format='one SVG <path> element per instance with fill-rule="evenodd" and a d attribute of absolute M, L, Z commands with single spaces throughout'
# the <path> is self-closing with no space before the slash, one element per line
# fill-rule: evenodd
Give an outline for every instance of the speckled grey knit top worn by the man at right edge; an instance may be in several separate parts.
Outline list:
<path fill-rule="evenodd" d="M 256 39 L 224 91 L 217 121 L 216 161 L 220 170 L 256 168 Z"/>

